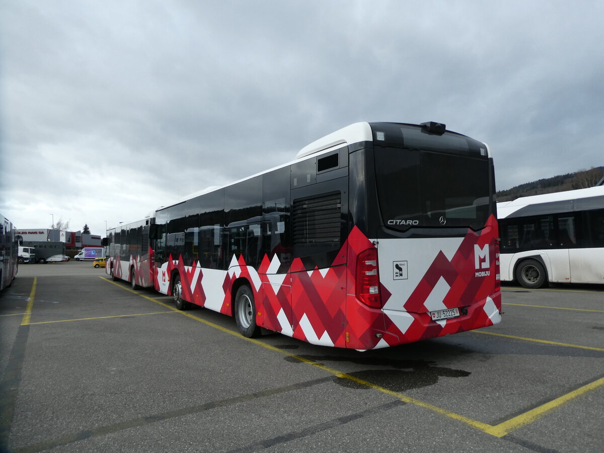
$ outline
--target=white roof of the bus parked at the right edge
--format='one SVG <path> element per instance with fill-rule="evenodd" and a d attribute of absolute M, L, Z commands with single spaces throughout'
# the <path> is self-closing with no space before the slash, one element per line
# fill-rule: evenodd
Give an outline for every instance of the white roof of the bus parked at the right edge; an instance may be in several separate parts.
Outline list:
<path fill-rule="evenodd" d="M 578 201 L 575 203 L 575 201 Z M 604 207 L 604 186 L 516 198 L 497 204 L 497 216 L 525 217 Z"/>

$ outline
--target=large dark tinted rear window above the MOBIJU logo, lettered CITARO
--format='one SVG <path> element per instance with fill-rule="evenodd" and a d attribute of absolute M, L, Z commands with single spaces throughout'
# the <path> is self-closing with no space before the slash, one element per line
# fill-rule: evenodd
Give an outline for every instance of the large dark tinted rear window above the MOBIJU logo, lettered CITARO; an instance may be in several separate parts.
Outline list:
<path fill-rule="evenodd" d="M 487 158 L 376 147 L 374 159 L 388 228 L 484 226 L 492 205 Z"/>

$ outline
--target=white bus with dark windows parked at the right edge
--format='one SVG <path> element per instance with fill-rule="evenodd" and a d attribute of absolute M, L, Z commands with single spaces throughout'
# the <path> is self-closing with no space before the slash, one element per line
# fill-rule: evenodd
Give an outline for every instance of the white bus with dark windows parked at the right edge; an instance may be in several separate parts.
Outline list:
<path fill-rule="evenodd" d="M 604 186 L 497 204 L 501 281 L 604 284 Z"/>

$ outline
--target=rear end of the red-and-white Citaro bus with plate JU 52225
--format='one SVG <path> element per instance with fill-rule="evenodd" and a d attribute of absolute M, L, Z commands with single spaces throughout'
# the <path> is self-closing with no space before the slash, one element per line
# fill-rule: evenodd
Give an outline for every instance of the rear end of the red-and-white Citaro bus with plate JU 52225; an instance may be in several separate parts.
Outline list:
<path fill-rule="evenodd" d="M 347 345 L 387 347 L 499 323 L 488 147 L 442 124 L 370 126 L 373 143 L 350 154 Z"/>

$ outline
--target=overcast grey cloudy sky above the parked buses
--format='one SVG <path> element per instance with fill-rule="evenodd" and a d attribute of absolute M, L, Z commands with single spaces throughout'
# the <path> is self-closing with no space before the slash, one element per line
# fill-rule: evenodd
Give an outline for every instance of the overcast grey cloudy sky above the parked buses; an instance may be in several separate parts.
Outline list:
<path fill-rule="evenodd" d="M 604 165 L 603 17 L 602 1 L 4 0 L 0 213 L 104 236 L 356 121 L 485 141 L 498 190 Z"/>

